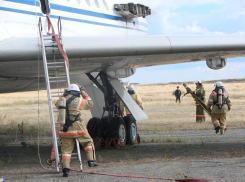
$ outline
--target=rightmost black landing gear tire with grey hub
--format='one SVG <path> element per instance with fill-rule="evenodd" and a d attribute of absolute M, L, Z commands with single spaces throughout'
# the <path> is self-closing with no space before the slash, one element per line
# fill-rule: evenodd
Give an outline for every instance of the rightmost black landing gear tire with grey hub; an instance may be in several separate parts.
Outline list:
<path fill-rule="evenodd" d="M 125 116 L 123 120 L 127 128 L 127 144 L 135 145 L 137 141 L 137 124 L 133 116 Z"/>

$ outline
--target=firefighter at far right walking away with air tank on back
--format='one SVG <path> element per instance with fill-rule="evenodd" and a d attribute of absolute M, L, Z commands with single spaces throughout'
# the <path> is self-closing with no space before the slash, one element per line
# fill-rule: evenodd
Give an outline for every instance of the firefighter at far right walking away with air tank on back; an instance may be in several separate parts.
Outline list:
<path fill-rule="evenodd" d="M 207 107 L 211 111 L 212 123 L 217 133 L 224 134 L 226 130 L 226 113 L 231 110 L 231 100 L 228 92 L 225 90 L 222 82 L 214 84 L 215 89 L 211 92 Z"/>

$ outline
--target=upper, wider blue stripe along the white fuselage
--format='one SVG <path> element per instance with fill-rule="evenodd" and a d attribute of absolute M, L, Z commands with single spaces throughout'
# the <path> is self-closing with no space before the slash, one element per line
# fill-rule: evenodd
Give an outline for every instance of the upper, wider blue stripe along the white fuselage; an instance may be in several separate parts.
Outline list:
<path fill-rule="evenodd" d="M 35 0 L 21 0 L 21 2 L 20 2 L 20 0 L 5 0 L 5 1 L 35 6 Z M 36 5 L 40 6 L 39 1 L 36 1 Z M 51 11 L 52 11 L 52 9 L 55 9 L 55 10 L 69 12 L 69 13 L 76 13 L 76 14 L 81 14 L 81 15 L 93 16 L 93 17 L 97 17 L 97 18 L 103 18 L 103 19 L 125 22 L 124 18 L 119 17 L 119 16 L 97 13 L 97 12 L 93 12 L 93 11 L 82 10 L 82 9 L 78 9 L 78 8 L 72 8 L 72 7 L 67 7 L 67 6 L 57 5 L 57 4 L 51 4 L 50 3 L 50 8 L 51 8 Z M 136 23 L 139 25 L 147 27 L 146 23 L 143 23 L 140 21 L 136 21 Z"/>

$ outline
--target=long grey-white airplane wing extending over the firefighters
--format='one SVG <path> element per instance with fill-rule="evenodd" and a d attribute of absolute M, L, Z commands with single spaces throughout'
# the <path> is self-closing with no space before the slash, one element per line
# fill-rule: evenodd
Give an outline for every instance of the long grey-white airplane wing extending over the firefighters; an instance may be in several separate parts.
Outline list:
<path fill-rule="evenodd" d="M 75 78 L 101 70 L 111 77 L 124 78 L 139 67 L 201 60 L 219 69 L 225 66 L 225 58 L 245 56 L 245 36 L 63 37 L 63 43 L 70 60 L 71 77 Z M 40 87 L 45 89 L 41 55 L 37 37 L 2 40 L 0 93 L 35 90 L 37 77 L 41 77 Z"/>

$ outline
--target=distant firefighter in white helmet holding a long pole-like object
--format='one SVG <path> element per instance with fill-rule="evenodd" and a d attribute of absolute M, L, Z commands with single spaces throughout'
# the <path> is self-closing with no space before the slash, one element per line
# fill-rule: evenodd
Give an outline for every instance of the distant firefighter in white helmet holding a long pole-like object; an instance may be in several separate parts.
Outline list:
<path fill-rule="evenodd" d="M 198 96 L 205 103 L 205 89 L 200 80 L 194 82 L 196 84 L 196 90 L 193 91 L 193 94 Z M 204 109 L 196 102 L 196 122 L 204 123 L 205 122 L 205 111 Z"/>

